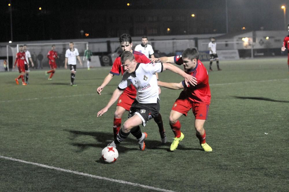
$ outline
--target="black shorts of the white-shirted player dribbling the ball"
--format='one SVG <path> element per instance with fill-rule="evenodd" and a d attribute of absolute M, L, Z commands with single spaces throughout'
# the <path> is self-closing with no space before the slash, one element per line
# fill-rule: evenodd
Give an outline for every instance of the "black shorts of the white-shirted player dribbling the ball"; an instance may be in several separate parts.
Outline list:
<path fill-rule="evenodd" d="M 129 110 L 128 118 L 132 117 L 134 114 L 138 115 L 142 119 L 142 125 L 157 117 L 160 111 L 159 99 L 157 103 L 139 103 L 136 99 L 131 104 Z"/>

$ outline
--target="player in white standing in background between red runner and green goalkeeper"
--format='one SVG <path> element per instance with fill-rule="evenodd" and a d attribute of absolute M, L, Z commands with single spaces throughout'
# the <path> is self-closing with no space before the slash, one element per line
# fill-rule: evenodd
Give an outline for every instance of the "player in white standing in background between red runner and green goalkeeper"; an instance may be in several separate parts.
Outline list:
<path fill-rule="evenodd" d="M 71 86 L 77 86 L 74 84 L 75 79 L 75 73 L 76 73 L 76 58 L 79 61 L 80 65 L 82 66 L 81 59 L 79 57 L 78 49 L 74 48 L 74 43 L 69 43 L 69 49 L 65 52 L 65 62 L 64 62 L 64 68 L 67 69 L 67 63 L 69 65 L 69 69 L 71 71 L 70 74 L 70 85 Z"/>

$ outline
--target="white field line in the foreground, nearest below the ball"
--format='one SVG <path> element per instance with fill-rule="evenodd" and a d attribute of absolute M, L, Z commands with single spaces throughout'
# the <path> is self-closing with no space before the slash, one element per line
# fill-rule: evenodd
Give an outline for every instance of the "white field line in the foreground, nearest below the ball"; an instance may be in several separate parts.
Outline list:
<path fill-rule="evenodd" d="M 107 180 L 107 181 L 112 181 L 112 182 L 116 182 L 116 183 L 127 184 L 127 185 L 136 186 L 136 187 L 142 187 L 142 188 L 145 188 L 145 189 L 151 189 L 151 190 L 155 190 L 155 191 L 175 192 L 175 191 L 171 191 L 171 190 L 167 190 L 167 189 L 161 189 L 161 188 L 158 188 L 158 187 L 151 187 L 151 186 L 148 186 L 148 185 L 142 185 L 142 184 L 127 182 L 127 181 L 123 181 L 123 180 L 111 179 L 111 178 L 107 178 L 107 177 L 100 177 L 100 176 L 91 175 L 91 174 L 88 174 L 88 173 L 82 173 L 82 172 L 78 172 L 78 171 L 62 169 L 62 168 L 59 168 L 59 167 L 52 167 L 52 166 L 43 165 L 43 164 L 39 164 L 39 163 L 24 161 L 24 160 L 15 159 L 15 158 L 12 158 L 12 157 L 4 157 L 4 156 L 0 155 L 0 158 L 12 160 L 12 161 L 18 161 L 18 162 L 21 162 L 21 163 L 27 163 L 27 164 L 31 164 L 31 165 L 35 165 L 35 166 L 39 166 L 39 167 L 45 167 L 45 168 L 48 168 L 48 169 L 55 169 L 57 171 L 64 171 L 64 172 L 67 172 L 67 173 L 73 173 L 73 174 L 77 174 L 77 175 L 92 177 L 92 178 L 96 178 L 96 179 L 100 179 L 100 180 Z"/>

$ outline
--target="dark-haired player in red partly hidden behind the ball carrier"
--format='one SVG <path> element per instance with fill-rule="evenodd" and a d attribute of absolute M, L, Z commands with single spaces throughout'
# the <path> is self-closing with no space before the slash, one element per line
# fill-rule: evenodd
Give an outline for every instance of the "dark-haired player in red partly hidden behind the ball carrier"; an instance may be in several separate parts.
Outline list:
<path fill-rule="evenodd" d="M 139 63 L 150 63 L 150 60 L 142 53 L 138 51 L 133 51 L 132 48 L 132 40 L 129 34 L 123 34 L 119 38 L 119 43 L 121 44 L 121 48 L 123 51 L 130 51 L 134 54 L 135 60 Z M 112 80 L 114 75 L 123 75 L 124 69 L 121 64 L 121 56 L 118 56 L 112 65 L 110 73 L 105 77 L 101 86 L 97 88 L 97 93 L 101 95 L 101 91 L 103 88 Z M 159 89 L 160 94 L 160 89 Z M 114 120 L 113 120 L 113 133 L 114 138 L 116 138 L 120 128 L 121 128 L 121 117 L 125 113 L 125 111 L 129 111 L 131 104 L 134 102 L 136 98 L 136 89 L 133 85 L 125 88 L 121 96 L 118 98 L 118 103 L 116 105 L 116 111 L 114 112 Z M 160 136 L 162 143 L 166 143 L 166 132 L 164 130 L 162 116 L 159 114 L 158 117 L 154 118 L 155 122 L 158 124 Z M 133 132 L 131 132 L 135 136 Z"/>

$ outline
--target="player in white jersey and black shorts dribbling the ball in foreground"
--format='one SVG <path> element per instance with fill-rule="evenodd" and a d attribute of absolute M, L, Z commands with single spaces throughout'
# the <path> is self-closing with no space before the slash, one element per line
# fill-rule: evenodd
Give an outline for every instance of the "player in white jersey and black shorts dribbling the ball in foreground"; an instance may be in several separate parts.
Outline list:
<path fill-rule="evenodd" d="M 125 70 L 122 80 L 118 84 L 118 88 L 113 92 L 106 107 L 97 113 L 97 117 L 107 112 L 123 93 L 123 90 L 132 84 L 136 88 L 137 94 L 129 110 L 129 119 L 123 124 L 116 139 L 112 143 L 109 143 L 108 146 L 116 147 L 132 132 L 138 140 L 140 150 L 143 151 L 145 149 L 144 139 L 147 137 L 147 134 L 140 131 L 139 125 L 145 126 L 147 121 L 158 116 L 160 110 L 158 80 L 154 74 L 168 69 L 184 77 L 186 83 L 194 85 L 197 81 L 195 77 L 188 75 L 183 70 L 169 63 L 137 63 L 134 54 L 130 51 L 123 52 L 121 63 Z"/>

